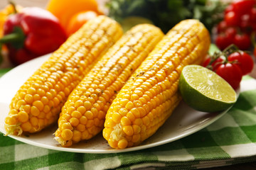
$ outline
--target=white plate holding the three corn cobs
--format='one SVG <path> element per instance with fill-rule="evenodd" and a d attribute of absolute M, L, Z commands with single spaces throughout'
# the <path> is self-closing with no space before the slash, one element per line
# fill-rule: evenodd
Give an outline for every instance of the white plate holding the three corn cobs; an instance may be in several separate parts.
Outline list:
<path fill-rule="evenodd" d="M 11 69 L 10 72 L 4 74 L 0 79 L 0 131 L 5 133 L 4 130 L 4 118 L 9 112 L 9 103 L 11 99 L 18 91 L 19 87 L 23 84 L 38 67 L 46 61 L 49 55 L 38 57 L 30 62 Z M 53 132 L 57 129 L 57 125 L 50 126 L 45 130 L 29 136 L 13 136 L 15 140 L 25 142 L 29 145 L 35 145 L 37 147 L 44 147 L 47 149 L 55 149 L 65 152 L 80 152 L 80 153 L 117 153 L 117 152 L 129 152 L 139 149 L 146 149 L 149 147 L 156 147 L 164 145 L 168 142 L 181 139 L 191 135 L 198 130 L 205 128 L 211 123 L 218 120 L 227 111 L 222 113 L 203 113 L 194 111 L 181 102 L 178 108 L 174 111 L 171 117 L 159 128 L 159 130 L 148 140 L 144 141 L 142 145 L 137 147 L 130 147 L 127 149 L 112 149 L 102 137 L 102 134 L 97 135 L 92 140 L 86 142 L 80 142 L 73 147 L 60 147 L 58 142 L 53 140 Z"/>

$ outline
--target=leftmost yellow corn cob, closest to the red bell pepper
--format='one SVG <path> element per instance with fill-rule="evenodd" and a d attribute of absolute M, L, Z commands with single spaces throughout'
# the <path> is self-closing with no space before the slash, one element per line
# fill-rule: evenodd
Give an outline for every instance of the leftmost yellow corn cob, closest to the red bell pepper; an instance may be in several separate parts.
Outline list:
<path fill-rule="evenodd" d="M 70 92 L 121 36 L 121 26 L 107 16 L 99 16 L 87 22 L 77 33 L 70 36 L 21 86 L 12 99 L 11 111 L 5 124 L 6 135 L 38 132 L 58 120 Z M 78 112 L 73 113 L 76 120 L 69 120 L 70 124 L 79 124 L 78 119 L 85 112 L 85 108 L 89 107 L 80 108 L 84 102 L 77 101 L 74 108 L 70 108 L 71 113 L 78 108 Z M 13 117 L 13 111 L 18 116 Z M 33 116 L 38 118 L 38 123 L 31 120 Z"/>

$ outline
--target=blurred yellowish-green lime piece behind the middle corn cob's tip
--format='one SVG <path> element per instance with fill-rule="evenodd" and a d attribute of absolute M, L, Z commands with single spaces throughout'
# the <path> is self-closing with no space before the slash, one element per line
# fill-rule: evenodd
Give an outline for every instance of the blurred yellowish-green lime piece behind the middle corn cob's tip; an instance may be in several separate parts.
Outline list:
<path fill-rule="evenodd" d="M 137 24 L 140 24 L 140 23 L 153 24 L 152 21 L 150 21 L 147 18 L 141 17 L 141 16 L 128 16 L 127 18 L 124 18 L 120 24 L 121 24 L 124 32 L 126 32 L 133 26 L 136 26 Z"/>

